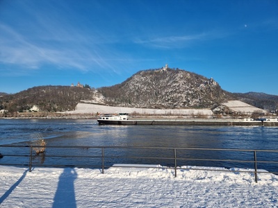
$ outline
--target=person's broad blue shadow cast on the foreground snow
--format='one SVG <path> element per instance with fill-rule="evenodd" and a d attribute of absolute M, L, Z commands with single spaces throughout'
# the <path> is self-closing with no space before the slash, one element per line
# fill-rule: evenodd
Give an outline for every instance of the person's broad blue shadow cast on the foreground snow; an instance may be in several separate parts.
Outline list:
<path fill-rule="evenodd" d="M 77 173 L 74 168 L 65 168 L 59 177 L 58 187 L 54 196 L 53 208 L 76 207 L 74 180 Z"/>

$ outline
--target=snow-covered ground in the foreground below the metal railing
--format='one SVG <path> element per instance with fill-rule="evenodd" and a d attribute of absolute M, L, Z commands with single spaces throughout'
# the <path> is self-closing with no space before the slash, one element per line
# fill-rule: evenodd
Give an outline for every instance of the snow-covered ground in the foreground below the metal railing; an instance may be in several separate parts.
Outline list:
<path fill-rule="evenodd" d="M 0 207 L 278 207 L 278 175 L 197 168 L 0 166 Z"/>

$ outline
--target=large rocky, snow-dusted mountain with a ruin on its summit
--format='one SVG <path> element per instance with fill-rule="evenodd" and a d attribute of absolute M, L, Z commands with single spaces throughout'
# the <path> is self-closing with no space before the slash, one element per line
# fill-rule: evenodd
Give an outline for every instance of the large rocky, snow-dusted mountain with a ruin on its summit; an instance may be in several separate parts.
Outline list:
<path fill-rule="evenodd" d="M 231 94 L 213 78 L 181 69 L 139 71 L 119 85 L 101 87 L 109 105 L 148 108 L 212 107 Z"/>

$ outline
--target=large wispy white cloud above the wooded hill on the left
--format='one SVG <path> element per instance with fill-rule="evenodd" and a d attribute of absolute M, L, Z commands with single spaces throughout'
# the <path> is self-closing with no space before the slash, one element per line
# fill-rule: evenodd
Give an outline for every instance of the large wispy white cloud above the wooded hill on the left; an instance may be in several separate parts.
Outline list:
<path fill-rule="evenodd" d="M 0 29 L 0 62 L 3 64 L 17 64 L 29 69 L 38 69 L 43 64 L 55 64 L 60 69 L 70 67 L 81 71 L 94 65 L 109 67 L 103 58 L 106 52 L 93 43 L 90 43 L 90 49 L 89 41 L 81 43 L 80 39 L 76 39 L 59 42 L 54 39 L 51 44 L 47 44 L 44 40 L 38 40 L 39 37 L 31 40 L 3 24 L 0 24 Z"/>

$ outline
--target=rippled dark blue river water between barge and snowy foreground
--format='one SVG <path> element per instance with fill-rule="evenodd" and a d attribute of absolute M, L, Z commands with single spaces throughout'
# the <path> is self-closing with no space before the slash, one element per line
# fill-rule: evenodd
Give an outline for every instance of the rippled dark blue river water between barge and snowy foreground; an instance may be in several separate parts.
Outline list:
<path fill-rule="evenodd" d="M 38 139 L 47 146 L 150 146 L 172 148 L 228 148 L 247 150 L 278 150 L 278 128 L 263 126 L 202 126 L 202 125 L 98 125 L 94 119 L 0 119 L 0 145 L 28 145 Z M 28 154 L 28 148 L 0 146 L 2 155 Z M 161 164 L 173 166 L 172 159 L 126 159 L 122 157 L 173 157 L 172 150 L 117 149 L 105 150 L 105 164 Z M 92 156 L 50 157 L 51 155 Z M 33 162 L 48 164 L 77 164 L 99 166 L 101 149 L 95 148 L 47 148 L 45 154 L 34 157 Z M 199 159 L 252 160 L 253 153 L 204 150 L 177 150 L 178 157 Z M 277 153 L 257 153 L 258 159 L 278 161 Z M 3 157 L 0 163 L 24 163 L 28 158 Z M 178 161 L 178 166 L 224 166 L 254 168 L 254 164 L 234 162 L 208 162 L 204 160 Z M 278 172 L 277 164 L 258 164 L 258 168 Z"/>

